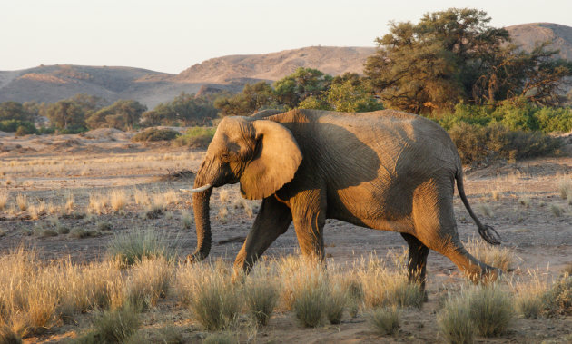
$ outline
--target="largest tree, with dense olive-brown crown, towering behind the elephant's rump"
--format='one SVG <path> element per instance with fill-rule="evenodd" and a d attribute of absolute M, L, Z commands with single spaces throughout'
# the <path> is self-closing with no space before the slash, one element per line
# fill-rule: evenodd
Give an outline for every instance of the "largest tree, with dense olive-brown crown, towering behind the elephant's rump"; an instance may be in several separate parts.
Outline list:
<path fill-rule="evenodd" d="M 391 23 L 390 34 L 376 39 L 379 49 L 365 73 L 385 105 L 413 113 L 442 113 L 459 101 L 494 103 L 523 92 L 532 101 L 551 99 L 572 68 L 547 64 L 554 53 L 544 47 L 528 54 L 507 46 L 508 31 L 489 22 L 483 11 L 450 8 L 423 15 L 417 25 Z M 518 94 L 504 92 L 508 84 Z"/>

